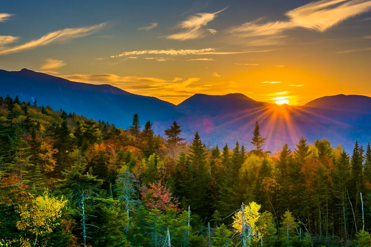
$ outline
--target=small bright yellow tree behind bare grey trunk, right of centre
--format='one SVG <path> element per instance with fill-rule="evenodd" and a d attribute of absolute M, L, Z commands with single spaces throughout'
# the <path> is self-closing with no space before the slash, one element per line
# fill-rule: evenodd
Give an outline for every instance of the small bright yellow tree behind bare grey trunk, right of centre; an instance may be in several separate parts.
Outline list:
<path fill-rule="evenodd" d="M 249 205 L 244 205 L 245 229 L 247 231 L 249 240 L 258 241 L 260 239 L 258 227 L 256 226 L 256 222 L 260 217 L 260 207 L 261 206 L 255 201 L 250 202 Z M 232 218 L 232 226 L 237 232 L 242 233 L 242 210 L 239 210 L 237 213 L 235 213 Z"/>

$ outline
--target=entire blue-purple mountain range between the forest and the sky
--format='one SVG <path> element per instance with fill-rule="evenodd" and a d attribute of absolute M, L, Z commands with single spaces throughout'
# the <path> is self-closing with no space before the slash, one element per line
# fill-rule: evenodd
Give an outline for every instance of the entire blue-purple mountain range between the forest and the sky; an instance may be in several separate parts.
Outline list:
<path fill-rule="evenodd" d="M 278 106 L 255 101 L 235 93 L 221 96 L 195 94 L 179 105 L 155 97 L 128 93 L 111 85 L 72 82 L 55 76 L 22 69 L 0 70 L 0 95 L 19 96 L 21 101 L 62 108 L 85 117 L 127 128 L 138 113 L 142 125 L 151 120 L 157 134 L 176 120 L 184 137 L 191 140 L 198 130 L 204 143 L 224 146 L 238 140 L 247 148 L 255 121 L 267 137 L 266 150 L 276 151 L 288 143 L 291 148 L 304 136 L 341 143 L 351 150 L 355 140 L 371 140 L 371 98 L 359 95 L 336 95 L 315 99 L 304 106 Z"/>

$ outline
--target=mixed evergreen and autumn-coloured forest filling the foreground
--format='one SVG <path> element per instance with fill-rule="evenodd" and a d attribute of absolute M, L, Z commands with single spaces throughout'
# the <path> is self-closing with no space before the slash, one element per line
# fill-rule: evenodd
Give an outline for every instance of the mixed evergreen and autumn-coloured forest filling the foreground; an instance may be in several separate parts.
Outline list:
<path fill-rule="evenodd" d="M 258 121 L 254 150 L 152 124 L 0 97 L 0 246 L 371 246 L 370 143 L 273 153 Z"/>

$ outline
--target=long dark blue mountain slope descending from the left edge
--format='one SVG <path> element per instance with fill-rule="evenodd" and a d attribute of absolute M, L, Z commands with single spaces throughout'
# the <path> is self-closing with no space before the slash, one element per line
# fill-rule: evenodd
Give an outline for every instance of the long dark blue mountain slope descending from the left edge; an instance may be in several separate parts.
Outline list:
<path fill-rule="evenodd" d="M 167 121 L 178 116 L 175 105 L 155 97 L 128 93 L 111 85 L 78 83 L 32 70 L 0 70 L 0 95 L 19 96 L 21 101 L 62 108 L 91 119 L 101 119 L 126 128 L 133 115 L 145 121 Z M 161 129 L 162 130 L 162 129 Z M 158 130 L 160 131 L 160 130 Z"/>

